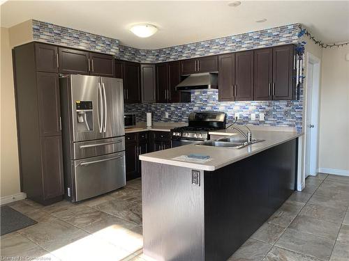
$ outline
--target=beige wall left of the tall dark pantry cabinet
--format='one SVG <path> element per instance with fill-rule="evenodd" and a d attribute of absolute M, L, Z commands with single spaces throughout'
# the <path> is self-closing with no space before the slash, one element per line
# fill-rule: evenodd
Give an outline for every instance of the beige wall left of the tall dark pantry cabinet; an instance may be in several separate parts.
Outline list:
<path fill-rule="evenodd" d="M 22 198 L 15 116 L 12 48 L 31 42 L 31 20 L 11 27 L 1 27 L 1 203 Z"/>

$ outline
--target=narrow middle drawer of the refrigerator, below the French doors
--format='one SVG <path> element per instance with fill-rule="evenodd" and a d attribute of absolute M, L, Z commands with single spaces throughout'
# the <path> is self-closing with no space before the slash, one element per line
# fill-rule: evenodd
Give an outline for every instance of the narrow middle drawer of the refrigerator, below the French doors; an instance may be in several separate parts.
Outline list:
<path fill-rule="evenodd" d="M 73 159 L 96 157 L 125 150 L 125 137 L 74 143 Z"/>

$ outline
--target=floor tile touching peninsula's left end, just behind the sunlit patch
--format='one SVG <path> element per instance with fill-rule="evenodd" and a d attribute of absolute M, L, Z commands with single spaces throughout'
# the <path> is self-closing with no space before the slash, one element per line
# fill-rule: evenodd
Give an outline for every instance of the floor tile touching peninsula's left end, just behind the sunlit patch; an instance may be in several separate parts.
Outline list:
<path fill-rule="evenodd" d="M 120 219 L 142 225 L 142 204 L 140 202 L 115 199 L 94 207 L 107 214 L 117 216 Z"/>

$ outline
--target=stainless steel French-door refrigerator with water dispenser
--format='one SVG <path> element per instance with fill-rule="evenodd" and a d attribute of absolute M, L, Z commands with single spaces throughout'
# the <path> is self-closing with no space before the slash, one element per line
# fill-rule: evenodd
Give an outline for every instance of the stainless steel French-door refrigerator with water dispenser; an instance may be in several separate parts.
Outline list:
<path fill-rule="evenodd" d="M 126 185 L 122 79 L 59 79 L 65 195 L 72 202 Z"/>

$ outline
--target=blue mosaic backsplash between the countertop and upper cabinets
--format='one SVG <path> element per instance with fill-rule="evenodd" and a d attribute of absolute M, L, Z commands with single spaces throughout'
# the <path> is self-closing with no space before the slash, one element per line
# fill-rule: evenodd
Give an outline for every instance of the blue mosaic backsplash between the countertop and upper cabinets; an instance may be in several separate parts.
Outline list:
<path fill-rule="evenodd" d="M 125 104 L 125 111 L 137 113 L 138 122 L 146 121 L 147 112 L 156 122 L 188 122 L 191 111 L 224 111 L 229 122 L 239 113 L 239 124 L 296 127 L 298 132 L 302 131 L 302 109 L 302 100 L 218 102 L 218 90 L 195 90 L 190 103 Z M 255 120 L 251 120 L 251 113 L 255 113 Z M 265 113 L 264 121 L 259 120 L 259 113 Z"/>

